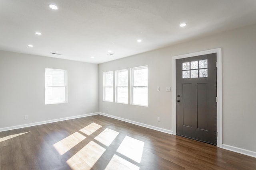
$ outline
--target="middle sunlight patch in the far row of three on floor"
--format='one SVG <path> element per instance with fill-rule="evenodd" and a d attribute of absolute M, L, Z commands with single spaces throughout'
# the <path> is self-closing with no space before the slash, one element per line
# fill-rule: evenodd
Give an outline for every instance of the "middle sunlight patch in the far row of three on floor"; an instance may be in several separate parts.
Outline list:
<path fill-rule="evenodd" d="M 99 141 L 103 145 L 106 145 L 107 147 L 109 147 L 109 145 L 114 141 L 114 139 L 116 139 L 118 134 L 119 132 L 106 128 L 94 139 L 96 141 Z"/>

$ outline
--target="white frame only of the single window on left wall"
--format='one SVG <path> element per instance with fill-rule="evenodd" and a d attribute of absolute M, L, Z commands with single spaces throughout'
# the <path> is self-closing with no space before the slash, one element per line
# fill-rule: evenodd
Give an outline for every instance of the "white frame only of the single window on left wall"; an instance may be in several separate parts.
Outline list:
<path fill-rule="evenodd" d="M 46 86 L 45 79 L 46 79 L 46 71 L 47 70 L 64 71 L 64 86 Z M 64 102 L 46 103 L 46 87 L 65 87 L 65 101 Z M 68 103 L 68 70 L 55 69 L 55 68 L 44 68 L 44 104 L 48 105 L 48 104 L 62 104 L 62 103 Z"/>

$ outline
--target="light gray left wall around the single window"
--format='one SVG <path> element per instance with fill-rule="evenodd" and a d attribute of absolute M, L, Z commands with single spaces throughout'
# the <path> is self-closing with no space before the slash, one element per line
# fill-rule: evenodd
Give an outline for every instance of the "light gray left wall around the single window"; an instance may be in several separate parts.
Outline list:
<path fill-rule="evenodd" d="M 68 70 L 68 103 L 44 104 L 44 68 Z M 0 51 L 0 128 L 97 111 L 98 64 Z"/>

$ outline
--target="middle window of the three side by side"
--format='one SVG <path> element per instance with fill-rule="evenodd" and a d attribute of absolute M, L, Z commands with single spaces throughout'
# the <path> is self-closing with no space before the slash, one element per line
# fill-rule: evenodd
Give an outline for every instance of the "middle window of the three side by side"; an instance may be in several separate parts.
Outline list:
<path fill-rule="evenodd" d="M 128 70 L 116 71 L 116 102 L 128 104 Z"/>

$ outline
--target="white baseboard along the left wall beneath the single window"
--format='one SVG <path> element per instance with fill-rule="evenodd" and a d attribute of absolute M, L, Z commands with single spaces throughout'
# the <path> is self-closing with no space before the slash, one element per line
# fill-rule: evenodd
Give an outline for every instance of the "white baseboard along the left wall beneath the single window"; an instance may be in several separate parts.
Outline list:
<path fill-rule="evenodd" d="M 53 123 L 53 122 L 57 122 L 57 121 L 77 119 L 77 118 L 80 118 L 80 117 L 87 117 L 87 116 L 98 115 L 98 114 L 99 114 L 98 112 L 95 112 L 95 113 L 88 113 L 88 114 L 78 115 L 78 116 L 64 117 L 64 118 L 60 118 L 60 119 L 52 119 L 52 120 L 48 120 L 48 121 L 40 121 L 40 122 L 36 122 L 36 123 L 28 123 L 28 124 L 25 124 L 25 125 L 4 127 L 4 128 L 0 128 L 0 132 L 9 131 L 9 130 L 13 130 L 13 129 L 20 129 L 20 128 L 24 128 L 24 127 L 36 126 L 36 125 L 43 125 L 43 124 L 46 124 L 46 123 Z"/>

